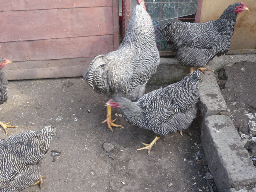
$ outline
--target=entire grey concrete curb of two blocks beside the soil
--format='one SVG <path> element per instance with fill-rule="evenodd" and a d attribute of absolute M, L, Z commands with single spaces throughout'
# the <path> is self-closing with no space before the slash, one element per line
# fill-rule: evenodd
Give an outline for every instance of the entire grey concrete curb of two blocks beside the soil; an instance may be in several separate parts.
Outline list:
<path fill-rule="evenodd" d="M 202 79 L 199 83 L 201 142 L 215 184 L 219 192 L 254 184 L 256 169 L 248 151 L 230 117 L 219 115 L 227 110 L 227 105 L 214 74 L 206 72 Z"/>

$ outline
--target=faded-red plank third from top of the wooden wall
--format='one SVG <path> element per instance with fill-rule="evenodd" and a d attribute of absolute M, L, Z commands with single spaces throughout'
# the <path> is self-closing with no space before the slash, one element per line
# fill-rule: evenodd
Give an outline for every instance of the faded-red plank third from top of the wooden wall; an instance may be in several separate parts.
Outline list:
<path fill-rule="evenodd" d="M 2 56 L 12 61 L 95 57 L 113 51 L 113 35 L 0 43 Z"/>

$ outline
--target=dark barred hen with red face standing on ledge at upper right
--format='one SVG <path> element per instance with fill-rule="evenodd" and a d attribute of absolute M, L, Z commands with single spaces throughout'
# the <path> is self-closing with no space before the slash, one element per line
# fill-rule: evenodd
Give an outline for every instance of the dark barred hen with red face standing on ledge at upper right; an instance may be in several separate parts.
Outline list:
<path fill-rule="evenodd" d="M 217 20 L 205 23 L 170 22 L 163 29 L 167 44 L 176 52 L 177 59 L 185 67 L 200 67 L 204 72 L 207 62 L 215 55 L 228 52 L 234 33 L 237 14 L 248 10 L 246 5 L 229 5 Z"/>

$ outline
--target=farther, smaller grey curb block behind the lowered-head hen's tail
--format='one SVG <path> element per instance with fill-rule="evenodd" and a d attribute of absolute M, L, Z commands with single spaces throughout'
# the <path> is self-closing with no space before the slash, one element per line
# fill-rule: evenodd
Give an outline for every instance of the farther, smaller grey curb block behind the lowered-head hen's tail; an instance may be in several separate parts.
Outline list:
<path fill-rule="evenodd" d="M 203 81 L 199 83 L 198 89 L 200 94 L 199 110 L 201 118 L 206 116 L 217 115 L 227 110 L 227 104 L 223 98 L 214 74 L 207 71 L 202 74 Z"/>

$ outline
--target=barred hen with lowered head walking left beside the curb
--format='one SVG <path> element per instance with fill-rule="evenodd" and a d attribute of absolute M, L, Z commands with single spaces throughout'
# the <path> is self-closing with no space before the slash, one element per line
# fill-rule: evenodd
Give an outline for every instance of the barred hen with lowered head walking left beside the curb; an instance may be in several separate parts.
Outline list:
<path fill-rule="evenodd" d="M 199 98 L 198 80 L 201 72 L 196 70 L 178 83 L 164 89 L 144 94 L 138 101 L 114 97 L 106 105 L 120 109 L 124 119 L 131 125 L 149 129 L 157 136 L 146 147 L 148 155 L 160 136 L 186 129 L 196 117 L 196 103 Z"/>

